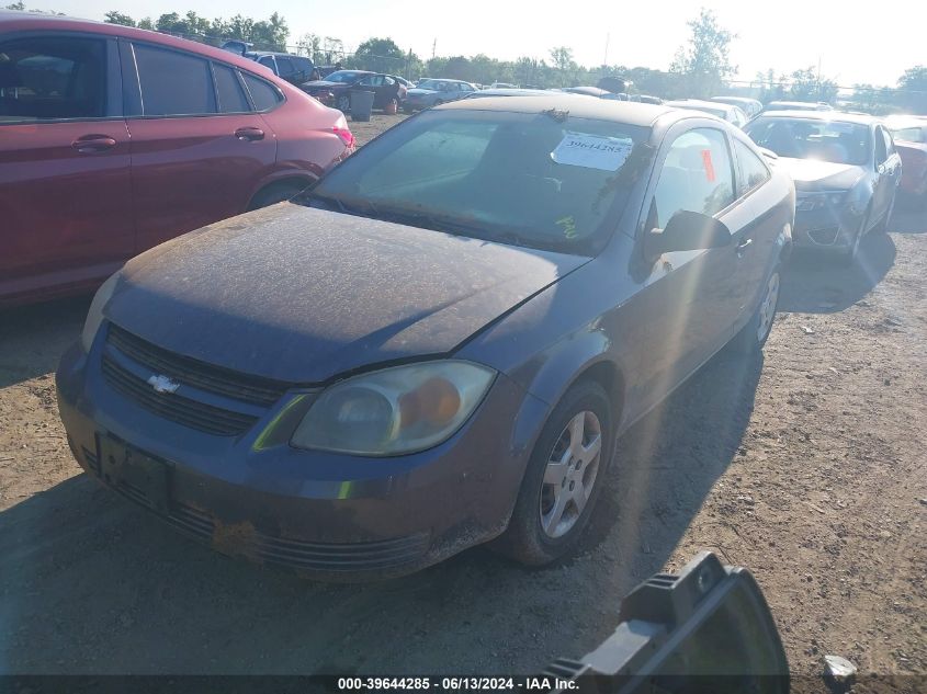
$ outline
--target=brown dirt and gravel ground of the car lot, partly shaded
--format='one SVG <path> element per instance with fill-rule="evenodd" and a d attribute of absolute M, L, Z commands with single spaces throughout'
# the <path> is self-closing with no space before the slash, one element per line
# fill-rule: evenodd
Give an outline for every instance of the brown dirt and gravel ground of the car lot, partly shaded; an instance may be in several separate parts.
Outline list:
<path fill-rule="evenodd" d="M 53 373 L 89 300 L 0 314 L 0 672 L 535 672 L 712 549 L 793 671 L 927 674 L 927 215 L 892 230 L 851 269 L 793 262 L 765 357 L 715 359 L 631 431 L 583 548 L 542 570 L 475 548 L 330 585 L 186 541 L 68 452 Z"/>

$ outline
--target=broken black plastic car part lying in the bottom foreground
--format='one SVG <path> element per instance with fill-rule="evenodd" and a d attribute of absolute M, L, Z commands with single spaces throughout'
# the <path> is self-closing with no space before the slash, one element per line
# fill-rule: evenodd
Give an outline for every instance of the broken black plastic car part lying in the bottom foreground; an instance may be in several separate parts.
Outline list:
<path fill-rule="evenodd" d="M 657 573 L 621 603 L 621 623 L 580 660 L 544 672 L 552 692 L 787 694 L 789 663 L 750 572 L 709 551 Z"/>

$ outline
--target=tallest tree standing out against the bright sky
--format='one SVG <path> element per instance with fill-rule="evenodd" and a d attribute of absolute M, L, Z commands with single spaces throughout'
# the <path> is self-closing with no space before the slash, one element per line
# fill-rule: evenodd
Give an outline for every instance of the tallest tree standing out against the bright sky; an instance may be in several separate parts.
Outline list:
<path fill-rule="evenodd" d="M 669 69 L 682 77 L 688 95 L 708 98 L 717 93 L 735 71 L 730 49 L 736 35 L 723 29 L 714 12 L 704 8 L 688 25 L 692 35 L 688 45 L 677 50 Z"/>

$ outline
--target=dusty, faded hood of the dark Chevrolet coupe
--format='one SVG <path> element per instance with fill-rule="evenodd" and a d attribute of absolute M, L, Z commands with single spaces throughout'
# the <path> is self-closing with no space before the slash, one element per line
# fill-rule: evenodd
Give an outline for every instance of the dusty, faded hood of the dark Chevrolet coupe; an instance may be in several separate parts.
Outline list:
<path fill-rule="evenodd" d="M 283 203 L 131 260 L 104 314 L 179 354 L 316 384 L 452 352 L 588 260 Z"/>

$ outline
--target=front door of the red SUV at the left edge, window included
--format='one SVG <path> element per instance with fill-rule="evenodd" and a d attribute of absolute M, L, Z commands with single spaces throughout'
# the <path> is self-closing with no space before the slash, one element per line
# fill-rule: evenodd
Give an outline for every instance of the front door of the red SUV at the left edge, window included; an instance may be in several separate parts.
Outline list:
<path fill-rule="evenodd" d="M 0 297 L 104 277 L 134 249 L 115 41 L 0 37 Z"/>

